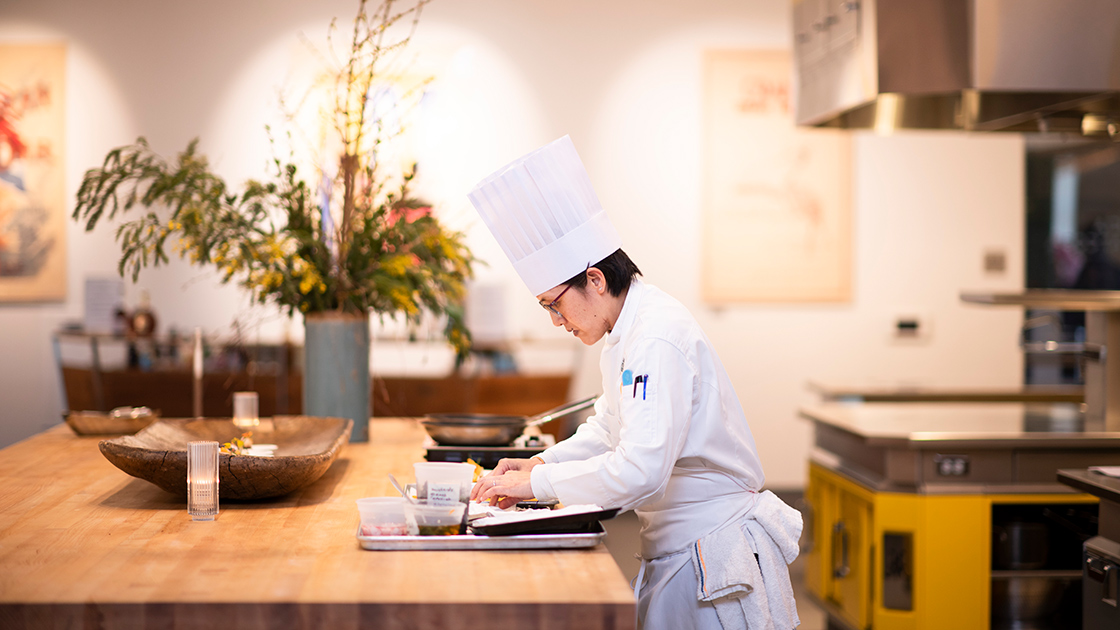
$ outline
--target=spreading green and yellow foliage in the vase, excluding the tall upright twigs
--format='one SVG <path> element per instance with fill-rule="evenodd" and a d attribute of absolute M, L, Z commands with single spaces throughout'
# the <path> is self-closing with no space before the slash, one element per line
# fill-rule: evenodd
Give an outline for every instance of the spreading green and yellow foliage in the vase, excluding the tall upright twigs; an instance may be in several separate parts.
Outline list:
<path fill-rule="evenodd" d="M 276 166 L 274 180 L 251 180 L 237 193 L 209 170 L 197 141 L 168 164 L 140 138 L 86 172 L 73 217 L 88 231 L 137 205 L 149 209 L 116 231 L 119 270 L 133 280 L 141 269 L 168 262 L 170 247 L 289 313 L 403 313 L 413 321 L 426 311 L 446 315 L 448 340 L 465 355 L 463 299 L 475 259 L 463 235 L 412 196 L 414 168 L 393 192 L 355 198 L 349 247 L 336 263 L 330 242 L 340 231 L 324 230 L 296 167 Z"/>

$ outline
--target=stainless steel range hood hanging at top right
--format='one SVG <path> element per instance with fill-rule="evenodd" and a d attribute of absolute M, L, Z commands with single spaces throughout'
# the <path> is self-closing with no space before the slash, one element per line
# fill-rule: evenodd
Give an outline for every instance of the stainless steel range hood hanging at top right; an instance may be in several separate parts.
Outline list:
<path fill-rule="evenodd" d="M 1120 0 L 794 0 L 799 124 L 1120 140 Z"/>

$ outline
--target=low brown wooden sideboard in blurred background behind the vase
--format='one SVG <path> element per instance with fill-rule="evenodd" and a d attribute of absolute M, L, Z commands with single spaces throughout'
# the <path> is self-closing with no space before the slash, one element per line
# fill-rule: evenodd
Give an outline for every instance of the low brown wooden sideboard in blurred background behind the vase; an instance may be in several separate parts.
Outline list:
<path fill-rule="evenodd" d="M 194 417 L 193 344 L 188 335 L 169 331 L 137 339 L 128 334 L 90 334 L 64 328 L 53 335 L 63 386 L 64 410 L 109 411 L 116 407 L 149 407 L 161 417 Z M 408 349 L 401 346 L 408 345 Z M 567 346 L 516 354 L 513 370 L 495 370 L 488 359 L 438 372 L 379 367 L 371 378 L 374 417 L 409 417 L 435 413 L 532 415 L 571 398 L 573 358 Z M 547 344 L 543 344 L 547 345 Z M 417 346 L 417 348 L 411 348 Z M 435 361 L 422 343 L 380 342 L 381 361 L 408 362 L 407 351 Z M 150 360 L 137 361 L 141 352 Z M 302 413 L 302 348 L 292 343 L 244 343 L 231 337 L 203 337 L 202 415 L 228 417 L 233 395 L 258 392 L 260 415 Z M 540 354 L 540 356 L 535 356 Z M 551 363 L 542 369 L 534 363 Z M 470 367 L 473 365 L 473 368 Z M 398 365 L 399 368 L 399 365 Z M 566 423 L 570 419 L 566 419 Z M 545 433 L 566 437 L 573 426 L 550 423 Z"/>

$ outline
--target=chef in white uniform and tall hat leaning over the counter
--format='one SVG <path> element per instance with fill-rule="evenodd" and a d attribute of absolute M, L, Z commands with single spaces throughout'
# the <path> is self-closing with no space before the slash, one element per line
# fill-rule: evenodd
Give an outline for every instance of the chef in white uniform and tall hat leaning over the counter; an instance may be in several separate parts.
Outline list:
<path fill-rule="evenodd" d="M 575 435 L 502 460 L 472 499 L 634 510 L 638 627 L 795 628 L 801 515 L 760 492 L 754 437 L 688 309 L 641 278 L 566 136 L 497 170 L 472 204 L 552 324 L 606 339 L 603 395 Z"/>

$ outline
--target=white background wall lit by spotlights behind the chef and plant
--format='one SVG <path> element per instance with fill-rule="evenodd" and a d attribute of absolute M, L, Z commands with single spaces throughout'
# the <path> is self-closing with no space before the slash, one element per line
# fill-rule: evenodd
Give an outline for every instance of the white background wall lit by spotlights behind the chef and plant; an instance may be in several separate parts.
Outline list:
<path fill-rule="evenodd" d="M 279 120 L 276 87 L 290 80 L 298 34 L 316 39 L 356 2 L 189 3 L 148 0 L 7 0 L 0 39 L 65 39 L 67 198 L 112 147 L 147 136 L 164 154 L 196 136 L 216 169 L 239 182 L 267 175 L 263 126 Z M 1023 285 L 1021 139 L 1015 136 L 858 135 L 853 143 L 852 299 L 842 305 L 711 309 L 699 298 L 700 59 L 704 48 L 787 48 L 790 9 L 768 0 L 702 3 L 618 0 L 436 0 L 414 40 L 441 76 L 417 147 L 423 191 L 467 230 L 491 266 L 480 281 L 508 285 L 510 322 L 557 340 L 466 192 L 494 168 L 571 135 L 599 196 L 647 281 L 688 305 L 737 383 L 768 483 L 804 481 L 812 401 L 808 379 L 1014 386 L 1020 313 L 960 304 L 961 289 Z M 435 123 L 433 123 L 435 124 Z M 112 274 L 111 230 L 72 224 L 63 304 L 0 305 L 0 446 L 54 425 L 62 411 L 49 334 L 81 318 L 82 281 Z M 984 249 L 1008 271 L 981 272 Z M 669 254 L 666 256 L 666 252 Z M 212 274 L 176 263 L 141 275 L 161 326 L 299 336 L 272 309 L 252 308 Z M 139 287 L 130 287 L 134 303 Z M 932 335 L 900 344 L 892 318 L 918 313 Z M 598 386 L 588 349 L 572 396 Z"/>

